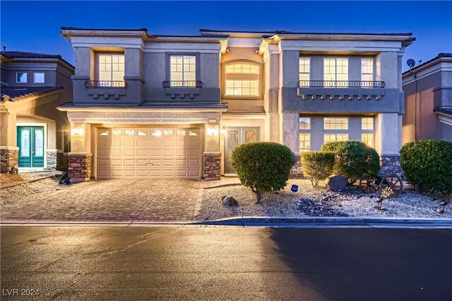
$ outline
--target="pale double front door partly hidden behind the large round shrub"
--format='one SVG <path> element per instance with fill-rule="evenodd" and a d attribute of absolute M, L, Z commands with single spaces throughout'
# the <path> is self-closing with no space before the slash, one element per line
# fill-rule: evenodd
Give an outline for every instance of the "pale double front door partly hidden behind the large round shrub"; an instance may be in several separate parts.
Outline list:
<path fill-rule="evenodd" d="M 259 128 L 226 128 L 225 135 L 225 173 L 235 173 L 230 154 L 235 147 L 248 142 L 259 141 Z"/>

